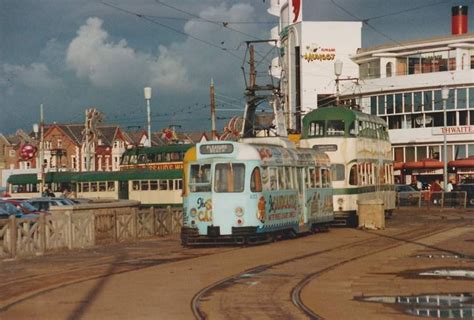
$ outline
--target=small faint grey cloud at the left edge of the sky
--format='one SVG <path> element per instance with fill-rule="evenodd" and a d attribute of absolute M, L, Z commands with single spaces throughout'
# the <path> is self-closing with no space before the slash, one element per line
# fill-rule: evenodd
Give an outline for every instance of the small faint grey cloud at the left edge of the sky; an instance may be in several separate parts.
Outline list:
<path fill-rule="evenodd" d="M 0 85 L 10 89 L 23 85 L 32 89 L 56 89 L 63 86 L 44 63 L 32 63 L 29 66 L 4 64 L 0 73 Z"/>

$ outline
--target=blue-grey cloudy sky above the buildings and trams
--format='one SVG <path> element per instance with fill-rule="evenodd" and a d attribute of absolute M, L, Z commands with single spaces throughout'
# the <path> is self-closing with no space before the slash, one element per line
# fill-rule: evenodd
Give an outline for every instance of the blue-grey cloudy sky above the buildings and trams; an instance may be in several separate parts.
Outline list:
<path fill-rule="evenodd" d="M 364 47 L 449 35 L 467 0 L 303 0 L 307 21 L 365 21 Z M 269 39 L 270 0 L 0 0 L 0 133 L 83 123 L 86 108 L 125 130 L 218 130 L 244 108 L 245 41 Z M 474 10 L 474 6 L 469 8 Z M 469 15 L 469 30 L 474 21 Z"/>

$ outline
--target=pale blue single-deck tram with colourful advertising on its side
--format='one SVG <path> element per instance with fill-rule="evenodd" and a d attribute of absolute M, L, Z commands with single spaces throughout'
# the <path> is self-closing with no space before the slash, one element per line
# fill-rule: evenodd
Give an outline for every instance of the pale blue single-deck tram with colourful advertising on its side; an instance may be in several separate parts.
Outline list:
<path fill-rule="evenodd" d="M 333 220 L 329 157 L 312 149 L 211 141 L 184 158 L 183 245 L 250 244 Z"/>

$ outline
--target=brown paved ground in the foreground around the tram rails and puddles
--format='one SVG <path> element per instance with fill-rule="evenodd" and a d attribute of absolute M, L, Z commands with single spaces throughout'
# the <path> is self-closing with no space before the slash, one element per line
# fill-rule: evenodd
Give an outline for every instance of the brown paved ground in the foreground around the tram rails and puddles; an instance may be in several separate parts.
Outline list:
<path fill-rule="evenodd" d="M 290 291 L 315 274 L 301 297 L 325 319 L 410 319 L 391 305 L 354 298 L 474 292 L 472 279 L 416 276 L 430 268 L 474 270 L 472 218 L 469 212 L 405 210 L 385 230 L 331 229 L 249 248 L 183 249 L 175 237 L 3 261 L 0 318 L 193 319 L 191 301 L 203 288 L 280 262 L 216 290 L 202 310 L 210 319 L 305 319 Z M 420 238 L 412 232 L 428 228 L 433 232 Z M 353 245 L 374 237 L 372 244 Z"/>

